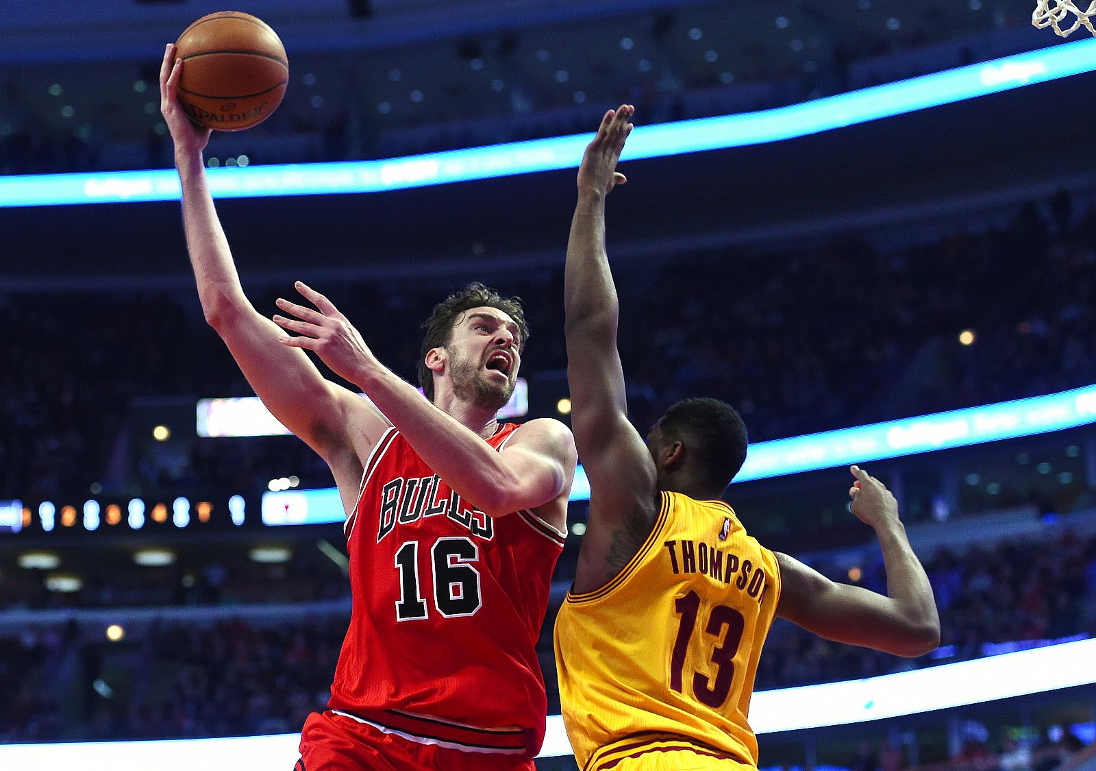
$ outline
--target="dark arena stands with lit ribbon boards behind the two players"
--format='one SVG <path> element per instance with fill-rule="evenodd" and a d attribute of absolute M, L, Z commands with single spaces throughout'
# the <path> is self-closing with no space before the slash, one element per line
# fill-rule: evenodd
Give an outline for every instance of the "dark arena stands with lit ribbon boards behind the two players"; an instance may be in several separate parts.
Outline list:
<path fill-rule="evenodd" d="M 288 769 L 350 614 L 327 466 L 204 322 L 157 77 L 205 0 L 0 14 L 0 768 Z M 751 723 L 781 771 L 1096 768 L 1096 41 L 1028 0 L 270 0 L 284 103 L 215 134 L 261 313 L 300 279 L 414 379 L 435 302 L 527 303 L 520 419 L 568 420 L 574 174 L 608 200 L 630 417 L 735 405 L 751 533 L 886 591 L 846 508 L 898 497 L 941 640 L 777 622 Z M 332 375 L 332 377 L 334 377 Z M 580 458 L 581 462 L 581 458 Z M 548 737 L 573 770 L 551 628 Z"/>

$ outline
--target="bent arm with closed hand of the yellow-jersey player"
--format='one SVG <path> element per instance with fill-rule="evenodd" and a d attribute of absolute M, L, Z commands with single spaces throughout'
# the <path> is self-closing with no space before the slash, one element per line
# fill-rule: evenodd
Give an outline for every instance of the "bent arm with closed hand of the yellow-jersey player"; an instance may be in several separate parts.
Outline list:
<path fill-rule="evenodd" d="M 879 536 L 887 596 L 837 583 L 786 554 L 780 563 L 776 612 L 827 639 L 895 656 L 922 656 L 940 642 L 940 620 L 925 569 L 910 547 L 890 490 L 853 466 L 852 509 Z"/>

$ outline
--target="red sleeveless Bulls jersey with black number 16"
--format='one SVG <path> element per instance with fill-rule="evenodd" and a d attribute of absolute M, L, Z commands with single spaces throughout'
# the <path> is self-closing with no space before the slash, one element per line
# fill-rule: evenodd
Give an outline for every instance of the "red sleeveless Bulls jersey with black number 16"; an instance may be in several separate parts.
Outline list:
<path fill-rule="evenodd" d="M 487 442 L 501 450 L 517 428 Z M 329 706 L 429 744 L 536 755 L 547 696 L 535 646 L 566 534 L 532 511 L 488 517 L 395 428 L 345 532 L 354 600 Z"/>

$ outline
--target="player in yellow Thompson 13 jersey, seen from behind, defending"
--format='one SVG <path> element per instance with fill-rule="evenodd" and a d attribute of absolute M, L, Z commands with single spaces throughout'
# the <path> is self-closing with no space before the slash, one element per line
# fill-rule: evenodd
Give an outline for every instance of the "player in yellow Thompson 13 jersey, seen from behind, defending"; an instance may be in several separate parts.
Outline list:
<path fill-rule="evenodd" d="M 584 771 L 756 768 L 746 721 L 775 615 L 899 656 L 939 621 L 893 496 L 853 466 L 853 513 L 875 528 L 889 597 L 834 583 L 750 537 L 720 500 L 745 460 L 738 412 L 671 407 L 643 440 L 628 422 L 605 253 L 605 196 L 633 109 L 605 114 L 579 169 L 564 277 L 568 381 L 590 521 L 556 621 L 563 719 Z"/>

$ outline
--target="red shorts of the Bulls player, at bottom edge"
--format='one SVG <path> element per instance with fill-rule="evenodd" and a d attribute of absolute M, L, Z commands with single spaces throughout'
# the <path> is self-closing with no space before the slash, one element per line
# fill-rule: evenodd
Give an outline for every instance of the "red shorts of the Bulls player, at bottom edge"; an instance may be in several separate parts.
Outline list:
<path fill-rule="evenodd" d="M 522 755 L 421 744 L 330 710 L 313 712 L 300 732 L 294 771 L 536 771 Z"/>

